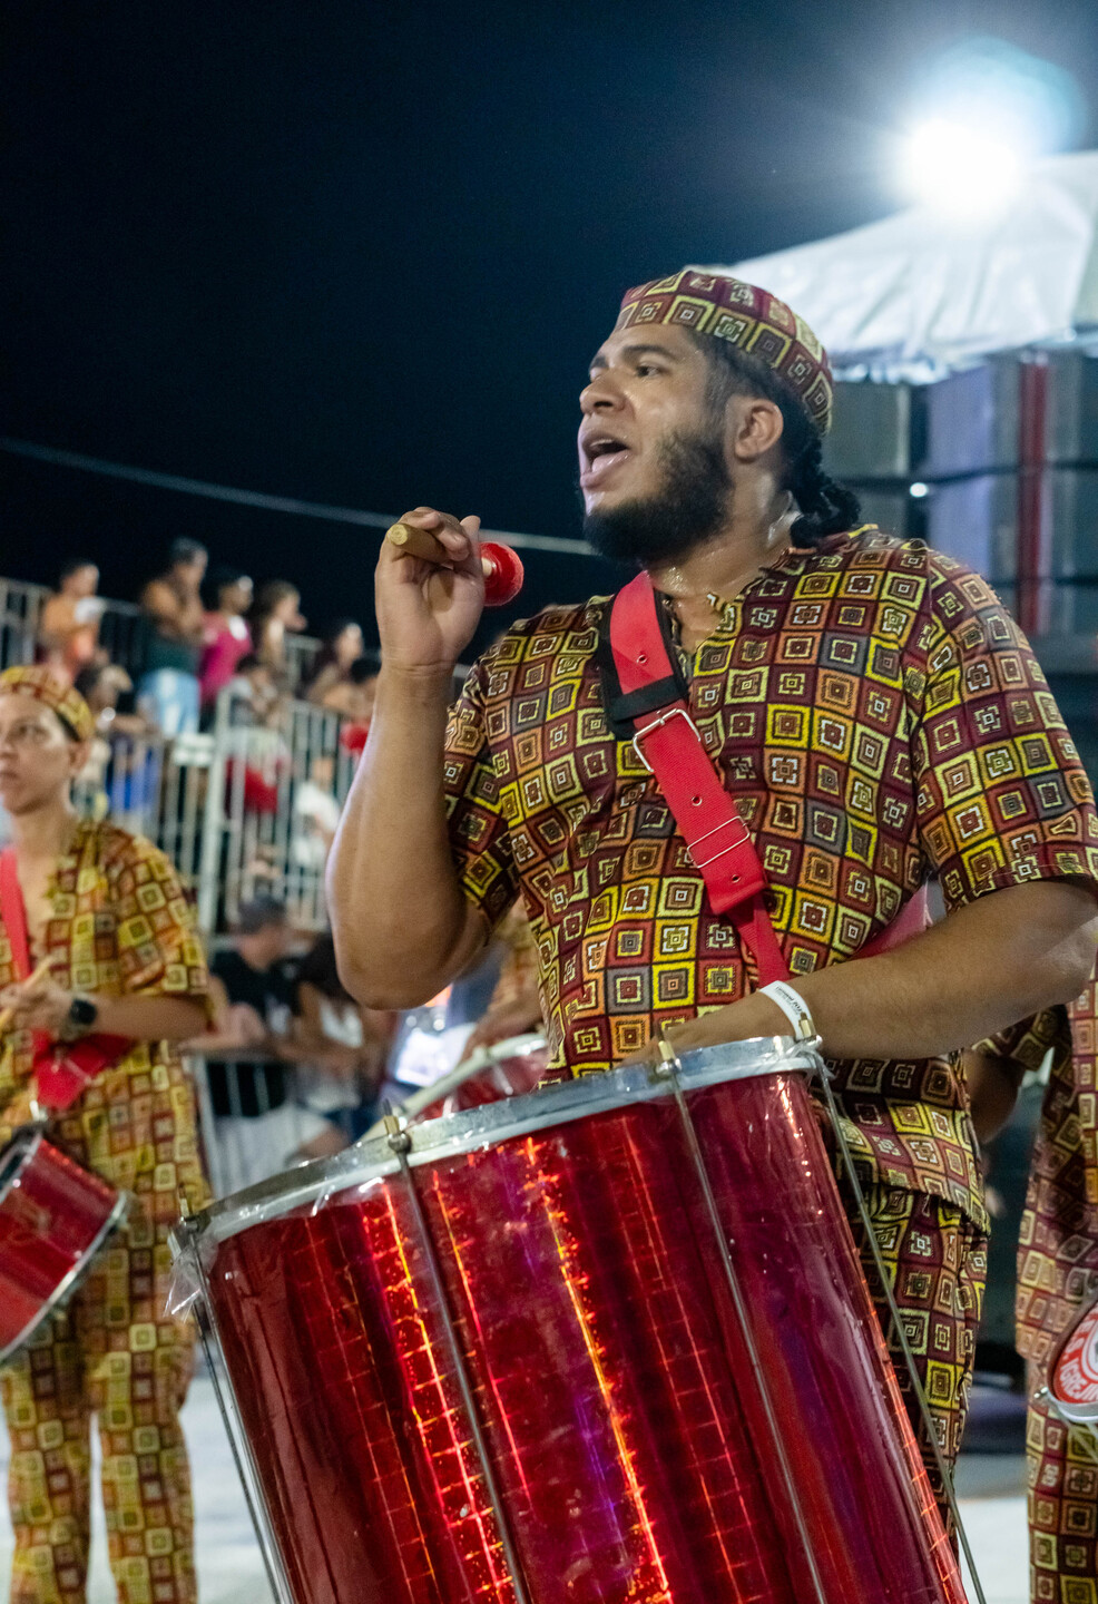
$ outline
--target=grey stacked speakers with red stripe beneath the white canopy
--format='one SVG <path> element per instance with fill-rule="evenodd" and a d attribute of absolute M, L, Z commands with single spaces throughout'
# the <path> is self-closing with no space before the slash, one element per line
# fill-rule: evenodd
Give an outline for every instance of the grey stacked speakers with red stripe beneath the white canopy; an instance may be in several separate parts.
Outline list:
<path fill-rule="evenodd" d="M 1098 358 L 1008 353 L 933 385 L 837 391 L 826 462 L 867 520 L 976 568 L 1056 656 L 1093 640 Z"/>

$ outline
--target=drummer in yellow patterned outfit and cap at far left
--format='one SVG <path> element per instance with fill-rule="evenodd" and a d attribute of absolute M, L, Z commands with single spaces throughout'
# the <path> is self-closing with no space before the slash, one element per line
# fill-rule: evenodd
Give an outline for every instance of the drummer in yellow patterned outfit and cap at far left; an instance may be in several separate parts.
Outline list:
<path fill-rule="evenodd" d="M 45 1096 L 42 1054 L 51 1044 L 115 1038 L 50 1139 L 135 1198 L 67 1309 L 0 1371 L 16 1535 L 10 1598 L 85 1598 L 90 1420 L 98 1413 L 119 1598 L 191 1604 L 180 1407 L 192 1335 L 165 1314 L 167 1233 L 183 1198 L 202 1208 L 205 1184 L 191 1086 L 170 1044 L 205 1028 L 207 972 L 163 853 L 72 808 L 71 784 L 91 736 L 88 704 L 46 669 L 0 675 L 0 802 L 14 842 L 0 906 L 0 1006 L 11 1011 L 0 1036 L 0 1142 L 29 1118 L 35 1091 Z M 26 983 L 16 983 L 14 926 L 26 929 L 37 977 Z"/>

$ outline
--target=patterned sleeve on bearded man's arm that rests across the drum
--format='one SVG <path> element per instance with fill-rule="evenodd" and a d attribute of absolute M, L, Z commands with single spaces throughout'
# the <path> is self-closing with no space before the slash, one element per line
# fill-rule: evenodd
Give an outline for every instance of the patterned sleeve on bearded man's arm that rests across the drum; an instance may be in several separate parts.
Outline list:
<path fill-rule="evenodd" d="M 1042 667 L 987 584 L 938 553 L 923 640 L 914 789 L 946 906 L 1042 879 L 1098 897 L 1095 800 Z"/>

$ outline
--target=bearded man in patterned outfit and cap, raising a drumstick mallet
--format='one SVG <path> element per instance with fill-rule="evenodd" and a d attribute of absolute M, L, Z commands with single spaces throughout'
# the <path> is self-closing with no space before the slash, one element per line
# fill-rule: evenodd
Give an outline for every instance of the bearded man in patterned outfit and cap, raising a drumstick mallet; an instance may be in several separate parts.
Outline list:
<path fill-rule="evenodd" d="M 1090 975 L 1087 778 L 986 584 L 859 528 L 824 475 L 827 359 L 774 297 L 691 269 L 630 290 L 580 406 L 585 533 L 651 576 L 692 725 L 766 871 L 795 1007 L 757 988 L 608 723 L 606 600 L 508 630 L 447 720 L 482 605 L 478 520 L 426 507 L 402 521 L 433 555 L 386 542 L 378 561 L 377 707 L 329 873 L 345 983 L 373 1007 L 422 1003 L 521 890 L 550 1078 L 651 1054 L 660 1031 L 680 1051 L 790 1035 L 801 1012 L 952 1458 L 987 1229 L 955 1054 Z M 944 922 L 848 962 L 928 876 Z M 902 1368 L 901 1386 L 910 1405 Z"/>

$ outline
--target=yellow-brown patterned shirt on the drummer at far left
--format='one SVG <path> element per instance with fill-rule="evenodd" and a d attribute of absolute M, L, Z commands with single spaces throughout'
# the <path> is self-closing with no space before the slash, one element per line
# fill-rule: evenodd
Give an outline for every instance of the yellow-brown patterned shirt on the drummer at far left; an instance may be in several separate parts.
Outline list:
<path fill-rule="evenodd" d="M 151 842 L 107 823 L 82 821 L 48 890 L 45 945 L 51 978 L 98 996 L 207 996 L 194 913 L 172 863 Z M 32 962 L 43 956 L 32 954 Z M 16 980 L 0 922 L 0 986 Z M 5 1108 L 32 1073 L 30 1031 L 0 1044 L 0 1142 Z M 54 1139 L 112 1185 L 136 1193 L 157 1222 L 205 1201 L 194 1096 L 175 1049 L 135 1043 L 61 1115 Z M 163 1246 L 167 1254 L 167 1245 Z"/>

